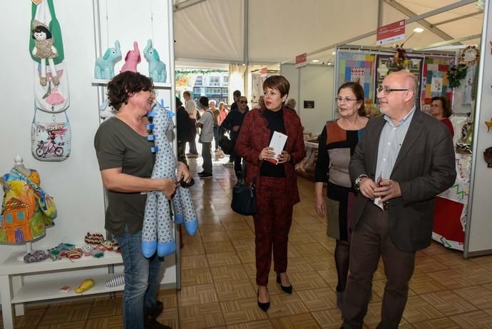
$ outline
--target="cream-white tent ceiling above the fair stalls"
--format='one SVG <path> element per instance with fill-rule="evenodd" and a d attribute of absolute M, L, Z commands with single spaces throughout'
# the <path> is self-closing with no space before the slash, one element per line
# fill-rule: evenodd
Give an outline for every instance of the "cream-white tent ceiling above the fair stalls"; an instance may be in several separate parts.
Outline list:
<path fill-rule="evenodd" d="M 407 38 L 417 26 L 424 32 L 412 36 L 406 49 L 481 34 L 483 13 L 476 1 L 466 0 L 175 0 L 175 57 L 178 62 L 294 61 L 298 54 L 375 31 L 379 4 L 381 25 L 385 25 L 456 3 L 468 4 L 407 24 Z M 458 19 L 462 16 L 466 17 Z M 461 43 L 478 44 L 479 39 Z M 376 36 L 351 44 L 375 46 Z M 308 59 L 327 61 L 332 51 L 326 49 Z"/>

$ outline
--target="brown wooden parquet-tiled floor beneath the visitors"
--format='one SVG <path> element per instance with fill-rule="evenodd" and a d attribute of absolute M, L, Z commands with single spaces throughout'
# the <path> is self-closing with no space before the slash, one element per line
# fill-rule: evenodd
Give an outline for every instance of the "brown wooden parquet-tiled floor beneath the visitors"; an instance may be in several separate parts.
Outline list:
<path fill-rule="evenodd" d="M 197 161 L 198 160 L 198 161 Z M 195 176 L 193 198 L 200 229 L 184 236 L 183 288 L 165 290 L 161 323 L 173 328 L 339 328 L 335 306 L 334 241 L 314 212 L 313 183 L 299 178 L 302 202 L 294 208 L 289 234 L 289 278 L 294 293 L 282 293 L 270 275 L 271 307 L 256 303 L 252 218 L 230 210 L 232 168 L 214 161 L 214 177 Z M 190 163 L 201 171 L 200 158 Z M 374 275 L 366 328 L 379 322 L 384 269 Z M 433 243 L 417 253 L 409 301 L 400 328 L 492 328 L 492 256 L 465 260 L 461 253 Z M 0 327 L 1 328 L 1 327 Z M 96 298 L 28 308 L 16 328 L 121 328 L 121 298 Z"/>

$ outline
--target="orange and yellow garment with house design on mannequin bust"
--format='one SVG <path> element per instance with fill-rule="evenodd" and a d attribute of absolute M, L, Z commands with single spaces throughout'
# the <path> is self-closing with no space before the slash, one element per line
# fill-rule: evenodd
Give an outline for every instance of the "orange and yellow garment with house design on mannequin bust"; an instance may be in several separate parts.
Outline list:
<path fill-rule="evenodd" d="M 39 186 L 41 179 L 34 169 L 19 164 L 0 178 L 4 189 L 1 203 L 0 243 L 36 241 L 53 226 L 56 206 L 53 198 Z"/>

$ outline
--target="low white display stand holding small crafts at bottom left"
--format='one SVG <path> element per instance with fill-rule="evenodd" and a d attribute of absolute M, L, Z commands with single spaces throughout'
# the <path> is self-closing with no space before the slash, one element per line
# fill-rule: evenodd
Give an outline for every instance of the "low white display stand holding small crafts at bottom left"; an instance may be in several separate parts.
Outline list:
<path fill-rule="evenodd" d="M 19 262 L 17 260 L 18 256 L 19 253 L 11 253 L 0 265 L 1 313 L 4 320 L 4 328 L 14 328 L 13 305 L 16 305 L 15 315 L 24 315 L 24 303 L 26 302 L 111 293 L 124 288 L 124 285 L 112 288 L 104 285 L 106 280 L 113 278 L 112 274 L 91 275 L 96 284 L 83 294 L 74 293 L 73 290 L 63 292 L 60 288 L 64 285 L 68 285 L 71 288 L 78 287 L 83 280 L 88 278 L 87 275 L 67 275 L 66 278 L 62 279 L 43 280 L 26 284 L 24 284 L 23 278 L 24 275 L 30 274 L 71 272 L 84 268 L 105 268 L 108 265 L 119 265 L 123 263 L 120 253 L 107 251 L 101 258 L 90 256 L 75 260 L 63 258 L 52 261 L 51 259 L 46 259 L 38 263 Z"/>

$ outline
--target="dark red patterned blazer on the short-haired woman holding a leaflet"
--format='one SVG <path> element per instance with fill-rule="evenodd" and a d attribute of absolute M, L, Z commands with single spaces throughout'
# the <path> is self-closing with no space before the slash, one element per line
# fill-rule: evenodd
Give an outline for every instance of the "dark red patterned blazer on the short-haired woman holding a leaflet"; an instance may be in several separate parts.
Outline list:
<path fill-rule="evenodd" d="M 258 158 L 263 148 L 270 144 L 270 129 L 267 128 L 268 121 L 263 116 L 265 108 L 254 108 L 245 115 L 241 131 L 235 145 L 235 152 L 246 160 L 246 183 L 249 185 L 255 180 L 257 186 L 262 183 L 260 177 L 260 166 L 263 161 Z M 302 125 L 297 113 L 289 108 L 283 108 L 285 130 L 287 131 L 287 151 L 291 160 L 285 163 L 285 179 L 287 180 L 287 191 L 285 198 L 287 203 L 294 205 L 299 202 L 299 191 L 297 190 L 297 175 L 294 166 L 301 161 L 306 152 L 304 150 L 304 137 Z"/>

